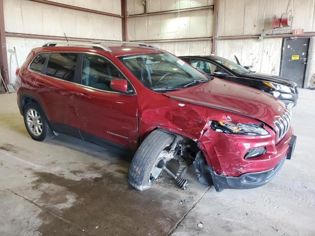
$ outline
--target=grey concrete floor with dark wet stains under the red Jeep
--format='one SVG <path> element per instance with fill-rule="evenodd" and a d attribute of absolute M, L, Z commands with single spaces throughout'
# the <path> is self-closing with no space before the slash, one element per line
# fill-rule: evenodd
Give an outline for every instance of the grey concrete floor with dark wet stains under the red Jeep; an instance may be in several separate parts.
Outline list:
<path fill-rule="evenodd" d="M 0 235 L 315 235 L 315 91 L 300 89 L 292 160 L 261 188 L 189 189 L 163 175 L 139 192 L 126 180 L 130 158 L 60 135 L 33 141 L 16 105 L 0 95 Z M 198 227 L 198 223 L 203 227 Z"/>

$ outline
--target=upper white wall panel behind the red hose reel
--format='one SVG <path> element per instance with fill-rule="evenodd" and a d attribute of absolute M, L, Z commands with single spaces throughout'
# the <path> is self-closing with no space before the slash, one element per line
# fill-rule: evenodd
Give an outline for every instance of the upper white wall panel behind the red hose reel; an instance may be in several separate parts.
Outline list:
<path fill-rule="evenodd" d="M 219 0 L 219 36 L 271 30 L 274 15 L 292 11 L 292 29 L 315 31 L 315 0 Z"/>

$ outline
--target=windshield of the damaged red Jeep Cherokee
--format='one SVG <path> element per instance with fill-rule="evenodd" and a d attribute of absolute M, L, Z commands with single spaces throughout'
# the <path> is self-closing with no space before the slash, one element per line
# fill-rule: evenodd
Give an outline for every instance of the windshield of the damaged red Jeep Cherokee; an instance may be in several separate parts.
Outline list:
<path fill-rule="evenodd" d="M 189 64 L 166 53 L 121 57 L 132 74 L 152 90 L 183 89 L 209 79 Z"/>

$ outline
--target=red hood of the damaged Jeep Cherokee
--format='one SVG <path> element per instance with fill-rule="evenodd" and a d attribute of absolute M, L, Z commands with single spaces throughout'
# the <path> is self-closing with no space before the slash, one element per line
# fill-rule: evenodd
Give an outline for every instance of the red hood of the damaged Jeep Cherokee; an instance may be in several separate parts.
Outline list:
<path fill-rule="evenodd" d="M 187 89 L 166 92 L 164 95 L 255 118 L 271 126 L 274 126 L 272 121 L 285 110 L 282 101 L 266 92 L 218 78 Z"/>

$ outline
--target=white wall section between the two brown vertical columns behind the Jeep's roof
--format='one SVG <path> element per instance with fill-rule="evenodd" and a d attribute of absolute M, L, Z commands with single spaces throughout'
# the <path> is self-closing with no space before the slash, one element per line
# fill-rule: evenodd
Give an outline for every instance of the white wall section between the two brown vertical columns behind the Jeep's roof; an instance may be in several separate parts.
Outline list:
<path fill-rule="evenodd" d="M 147 0 L 147 13 L 213 5 L 213 0 Z M 144 14 L 141 0 L 127 0 L 127 15 Z M 177 56 L 208 55 L 212 47 L 213 9 L 127 18 L 129 41 L 150 41 Z M 202 38 L 190 41 L 190 38 Z M 178 39 L 183 39 L 178 42 Z M 160 42 L 168 40 L 168 42 Z M 174 42 L 170 42 L 174 40 Z"/>

